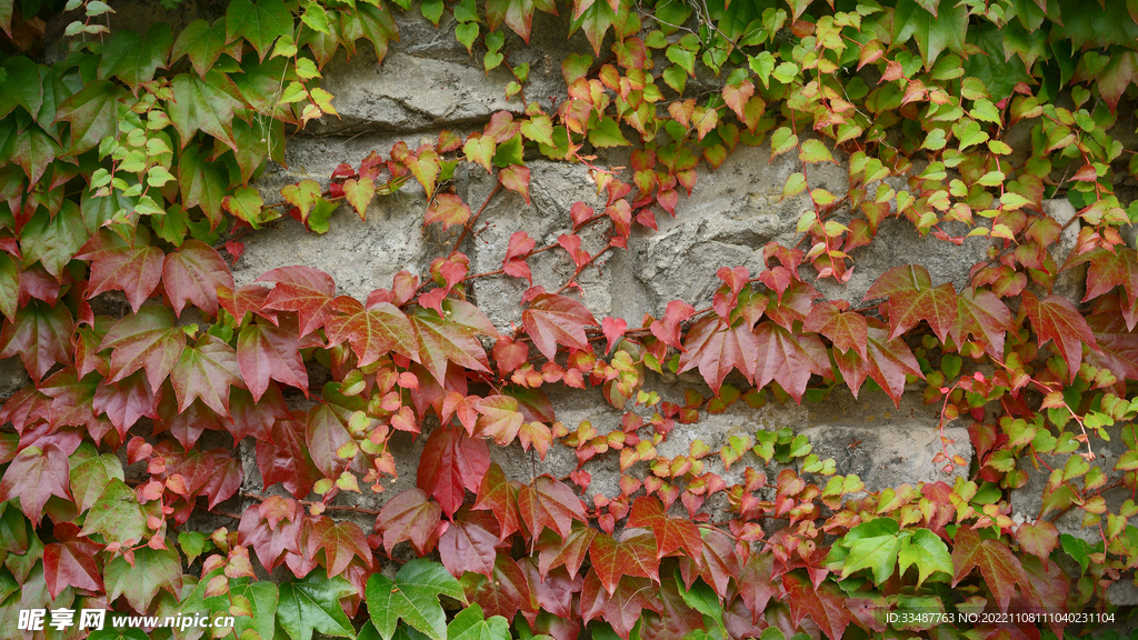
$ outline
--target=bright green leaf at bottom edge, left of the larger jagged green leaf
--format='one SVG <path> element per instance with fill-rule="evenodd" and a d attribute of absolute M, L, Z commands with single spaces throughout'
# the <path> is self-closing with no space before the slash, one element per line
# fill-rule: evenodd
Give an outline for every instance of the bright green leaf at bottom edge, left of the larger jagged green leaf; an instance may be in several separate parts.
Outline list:
<path fill-rule="evenodd" d="M 277 622 L 292 640 L 312 640 L 313 631 L 333 638 L 355 638 L 355 627 L 340 607 L 340 598 L 356 592 L 343 577 L 314 569 L 303 580 L 279 586 Z"/>

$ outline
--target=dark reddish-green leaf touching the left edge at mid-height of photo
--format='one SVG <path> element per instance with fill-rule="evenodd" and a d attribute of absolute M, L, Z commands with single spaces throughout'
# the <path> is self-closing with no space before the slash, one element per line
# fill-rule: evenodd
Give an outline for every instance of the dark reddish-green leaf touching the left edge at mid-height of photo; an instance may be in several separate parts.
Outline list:
<path fill-rule="evenodd" d="M 33 300 L 0 330 L 0 358 L 19 354 L 32 379 L 40 379 L 56 364 L 72 359 L 71 337 L 75 323 L 67 306 Z"/>

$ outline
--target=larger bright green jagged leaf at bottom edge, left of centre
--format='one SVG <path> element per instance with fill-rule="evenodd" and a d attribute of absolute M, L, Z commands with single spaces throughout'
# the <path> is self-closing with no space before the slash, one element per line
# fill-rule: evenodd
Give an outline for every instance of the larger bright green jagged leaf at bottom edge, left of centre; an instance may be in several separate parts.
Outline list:
<path fill-rule="evenodd" d="M 394 581 L 378 573 L 368 579 L 368 610 L 384 640 L 391 640 L 399 620 L 431 640 L 447 640 L 439 596 L 465 602 L 459 581 L 438 563 L 422 558 L 403 565 Z"/>

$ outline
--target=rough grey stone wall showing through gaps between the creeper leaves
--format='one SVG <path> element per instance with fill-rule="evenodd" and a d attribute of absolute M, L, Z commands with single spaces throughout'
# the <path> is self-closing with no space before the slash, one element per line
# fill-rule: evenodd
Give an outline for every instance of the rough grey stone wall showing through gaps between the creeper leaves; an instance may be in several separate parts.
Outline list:
<path fill-rule="evenodd" d="M 117 27 L 143 30 L 146 18 L 141 10 L 132 11 L 131 3 L 117 7 Z M 147 11 L 152 9 L 149 3 Z M 159 18 L 174 28 L 197 17 L 211 17 L 201 5 L 190 0 L 180 3 L 178 11 Z M 393 42 L 386 60 L 380 65 L 370 46 L 361 42 L 351 59 L 344 52 L 324 69 L 323 87 L 333 96 L 339 118 L 325 117 L 311 123 L 307 130 L 287 141 L 287 166 L 271 165 L 258 179 L 256 187 L 266 202 L 279 200 L 282 186 L 303 179 L 313 179 L 327 187 L 329 175 L 341 162 L 357 164 L 371 150 L 387 154 L 397 141 L 412 148 L 423 141 L 434 141 L 442 130 L 460 134 L 480 130 L 497 110 L 521 112 L 520 99 L 508 100 L 505 87 L 512 80 L 504 68 L 484 73 L 481 60 L 471 57 L 453 36 L 454 24 L 445 20 L 436 28 L 415 13 L 396 16 L 401 41 Z M 141 23 L 139 20 L 142 20 Z M 567 17 L 543 13 L 534 16 L 531 43 L 525 47 L 513 34 L 508 35 L 506 49 L 512 64 L 529 63 L 530 82 L 526 95 L 551 108 L 566 96 L 560 61 L 569 52 L 587 52 L 582 34 L 568 38 Z M 711 82 L 693 81 L 691 88 Z M 599 164 L 622 166 L 627 157 L 619 151 L 602 156 Z M 569 208 L 584 200 L 603 207 L 596 196 L 595 183 L 585 167 L 554 163 L 538 157 L 527 158 L 531 169 L 531 204 L 513 192 L 498 194 L 481 216 L 478 230 L 461 247 L 471 259 L 471 272 L 492 271 L 502 264 L 506 239 L 517 230 L 525 230 L 538 245 L 555 241 L 568 232 L 572 223 Z M 628 251 L 607 253 L 580 278 L 584 303 L 597 318 L 624 318 L 638 326 L 645 313 L 661 315 L 671 300 L 684 300 L 696 306 L 706 305 L 718 286 L 715 272 L 720 266 L 744 265 L 757 273 L 761 269 L 761 249 L 770 240 L 785 245 L 797 243 L 795 223 L 799 214 L 810 206 L 805 196 L 782 200 L 783 183 L 787 175 L 799 171 L 800 163 L 793 154 L 770 159 L 767 146 L 740 146 L 718 171 L 701 164 L 696 186 L 690 197 L 681 197 L 675 219 L 658 218 L 658 231 L 636 231 Z M 811 186 L 819 186 L 834 194 L 843 194 L 847 184 L 844 165 L 811 167 Z M 892 183 L 905 189 L 904 181 Z M 460 166 L 453 187 L 473 208 L 486 198 L 494 181 L 480 167 Z M 245 254 L 233 265 L 237 284 L 250 284 L 258 276 L 278 266 L 305 264 L 330 273 L 339 293 L 365 298 L 378 287 L 390 287 L 393 276 L 402 270 L 426 271 L 431 260 L 446 255 L 455 233 L 443 233 L 435 228 L 424 229 L 422 214 L 427 206 L 423 190 L 414 181 L 397 194 L 378 197 L 366 212 L 366 221 L 347 206 L 341 206 L 331 220 L 325 235 L 306 231 L 299 223 L 282 219 L 267 228 L 242 237 Z M 1047 203 L 1047 211 L 1059 222 L 1074 215 L 1064 202 Z M 1062 263 L 1078 235 L 1078 222 L 1071 224 L 1052 251 Z M 591 253 L 604 246 L 599 235 L 585 235 L 584 248 Z M 902 220 L 885 221 L 876 241 L 852 253 L 855 270 L 846 286 L 832 281 L 819 284 L 819 290 L 830 298 L 860 303 L 869 285 L 887 269 L 906 263 L 920 263 L 929 269 L 933 285 L 954 282 L 962 288 L 967 282 L 968 270 L 982 259 L 989 240 L 971 238 L 963 246 L 921 238 Z M 547 288 L 564 282 L 572 273 L 572 264 L 563 252 L 546 252 L 530 260 L 536 285 Z M 809 268 L 803 268 L 809 269 Z M 1065 276 L 1059 290 L 1072 300 L 1081 298 L 1081 274 Z M 519 323 L 520 298 L 525 282 L 513 278 L 488 278 L 472 285 L 475 302 L 503 330 Z M 9 367 L 10 368 L 10 367 Z M 16 370 L 22 370 L 18 366 Z M 0 394 L 23 384 L 16 374 L 0 368 Z M 7 378 L 14 378 L 8 380 Z M 665 400 L 683 403 L 684 393 L 694 389 L 704 397 L 710 391 L 694 374 L 653 376 L 650 388 Z M 848 389 L 835 389 L 824 403 L 769 403 L 754 410 L 743 402 L 726 412 L 707 415 L 693 425 L 679 425 L 661 445 L 666 457 L 687 452 L 698 440 L 718 450 L 731 435 L 753 434 L 757 429 L 790 427 L 807 434 L 814 451 L 820 458 L 832 457 L 839 473 L 856 473 L 869 491 L 898 486 L 902 483 L 945 481 L 954 482 L 955 475 L 966 473 L 966 467 L 943 473 L 932 462 L 941 450 L 941 436 L 950 441 L 949 454 L 971 461 L 972 446 L 963 420 L 939 428 L 938 407 L 921 403 L 923 385 L 915 385 L 897 408 L 882 393 L 863 389 L 855 399 Z M 570 429 L 588 420 L 601 433 L 619 428 L 620 412 L 613 410 L 599 391 L 577 392 L 564 389 L 551 393 L 558 419 Z M 429 430 L 430 425 L 424 427 Z M 345 495 L 339 501 L 378 508 L 401 490 L 413 486 L 415 460 L 424 437 L 412 441 L 410 435 L 397 433 L 394 442 L 399 477 L 382 493 L 364 489 L 362 495 Z M 1118 452 L 1106 452 L 1118 457 Z M 251 448 L 244 448 L 246 489 L 262 491 L 261 478 Z M 549 459 L 535 461 L 517 445 L 497 448 L 494 460 L 503 466 L 510 477 L 528 479 L 533 473 L 564 476 L 576 468 L 576 458 L 566 448 L 554 448 Z M 710 470 L 723 473 L 728 484 L 742 479 L 745 466 L 762 468 L 762 461 L 747 453 L 729 471 L 721 468 L 717 457 L 708 459 Z M 1113 459 L 1108 459 L 1108 462 Z M 1024 462 L 1026 463 L 1026 462 Z M 1062 465 L 1062 460 L 1050 462 Z M 716 468 L 715 466 L 719 467 Z M 592 463 L 589 494 L 619 493 L 618 471 L 610 454 L 604 465 Z M 636 469 L 634 469 L 635 471 Z M 773 465 L 765 469 L 768 477 L 777 475 Z M 643 469 L 641 469 L 643 471 Z M 1031 482 L 1014 493 L 1013 516 L 1033 519 L 1039 508 L 1040 484 L 1046 474 L 1029 469 Z M 1119 501 L 1122 497 L 1119 497 Z M 708 508 L 721 509 L 723 504 Z M 712 515 L 714 516 L 714 515 Z M 715 519 L 715 518 L 714 518 Z M 371 522 L 361 522 L 365 527 Z M 1080 531 L 1078 516 L 1061 518 L 1061 530 L 1092 541 L 1097 532 Z M 1138 600 L 1136 600 L 1138 601 Z"/>

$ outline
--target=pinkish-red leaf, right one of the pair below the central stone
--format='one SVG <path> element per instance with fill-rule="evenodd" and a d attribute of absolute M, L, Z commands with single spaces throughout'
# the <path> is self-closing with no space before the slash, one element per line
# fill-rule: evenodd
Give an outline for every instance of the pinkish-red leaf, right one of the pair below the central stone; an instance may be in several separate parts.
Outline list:
<path fill-rule="evenodd" d="M 758 362 L 754 366 L 754 386 L 764 387 L 777 381 L 795 401 L 801 402 L 810 375 L 830 377 L 830 358 L 818 336 L 794 334 L 766 321 L 754 329 L 758 340 Z"/>

